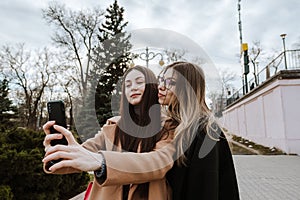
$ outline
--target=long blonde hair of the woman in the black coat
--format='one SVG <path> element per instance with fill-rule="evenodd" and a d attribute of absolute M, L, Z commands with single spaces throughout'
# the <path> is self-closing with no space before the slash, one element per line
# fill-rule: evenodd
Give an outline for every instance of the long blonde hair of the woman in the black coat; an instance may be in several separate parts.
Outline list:
<path fill-rule="evenodd" d="M 195 138 L 199 127 L 210 135 L 214 116 L 205 101 L 205 76 L 203 70 L 189 62 L 175 62 L 168 65 L 162 73 L 172 68 L 176 74 L 175 95 L 166 107 L 167 115 L 179 125 L 175 130 L 177 158 L 179 164 L 185 164 L 184 152 Z"/>

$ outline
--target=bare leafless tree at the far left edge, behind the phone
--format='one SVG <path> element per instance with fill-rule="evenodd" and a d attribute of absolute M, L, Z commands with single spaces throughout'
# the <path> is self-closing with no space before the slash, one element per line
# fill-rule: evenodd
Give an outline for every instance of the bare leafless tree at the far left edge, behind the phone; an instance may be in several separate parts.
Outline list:
<path fill-rule="evenodd" d="M 5 76 L 14 85 L 16 95 L 21 97 L 15 100 L 19 107 L 23 105 L 24 125 L 35 129 L 42 95 L 56 80 L 53 55 L 46 48 L 34 53 L 26 51 L 24 44 L 16 48 L 4 46 L 0 54 Z"/>

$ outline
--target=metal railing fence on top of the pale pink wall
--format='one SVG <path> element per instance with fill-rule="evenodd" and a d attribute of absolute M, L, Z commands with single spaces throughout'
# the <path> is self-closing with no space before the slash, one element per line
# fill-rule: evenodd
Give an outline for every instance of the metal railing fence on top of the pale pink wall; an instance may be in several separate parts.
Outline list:
<path fill-rule="evenodd" d="M 276 75 L 281 70 L 300 69 L 300 49 L 286 50 L 280 53 L 266 67 L 260 70 L 255 77 L 250 79 L 247 84 L 233 93 L 227 98 L 226 105 L 230 105 L 246 94 L 246 91 L 251 91 L 255 87 L 261 85 L 269 78 Z M 247 87 L 247 88 L 246 88 Z"/>

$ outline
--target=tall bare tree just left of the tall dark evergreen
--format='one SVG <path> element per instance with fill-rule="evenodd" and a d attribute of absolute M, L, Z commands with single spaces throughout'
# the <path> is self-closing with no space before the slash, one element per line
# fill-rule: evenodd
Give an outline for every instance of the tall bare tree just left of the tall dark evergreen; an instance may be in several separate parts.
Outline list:
<path fill-rule="evenodd" d="M 98 42 L 97 31 L 104 11 L 99 8 L 71 11 L 64 5 L 53 3 L 43 10 L 43 17 L 55 26 L 52 40 L 58 47 L 64 48 L 64 58 L 69 65 L 76 67 L 78 74 L 73 74 L 72 79 L 78 83 L 80 94 L 84 97 L 91 71 L 92 49 Z"/>

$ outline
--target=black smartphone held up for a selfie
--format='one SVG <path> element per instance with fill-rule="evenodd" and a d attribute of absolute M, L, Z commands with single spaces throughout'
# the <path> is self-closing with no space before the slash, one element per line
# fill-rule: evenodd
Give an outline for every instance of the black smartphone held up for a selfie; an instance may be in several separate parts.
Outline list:
<path fill-rule="evenodd" d="M 67 128 L 67 121 L 66 121 L 66 113 L 65 113 L 65 105 L 64 102 L 61 100 L 56 101 L 49 101 L 47 103 L 47 110 L 48 110 L 48 118 L 49 121 L 54 120 L 56 125 L 62 126 L 64 128 Z M 56 131 L 53 127 L 50 128 L 50 133 L 59 133 Z M 66 140 L 65 136 L 62 139 L 57 140 L 51 140 L 50 142 L 51 146 L 57 145 L 57 144 L 63 144 L 67 145 L 68 141 Z M 46 163 L 46 170 L 49 171 L 49 168 L 54 165 L 55 163 L 58 163 L 62 159 L 59 160 L 51 160 L 48 163 Z"/>

